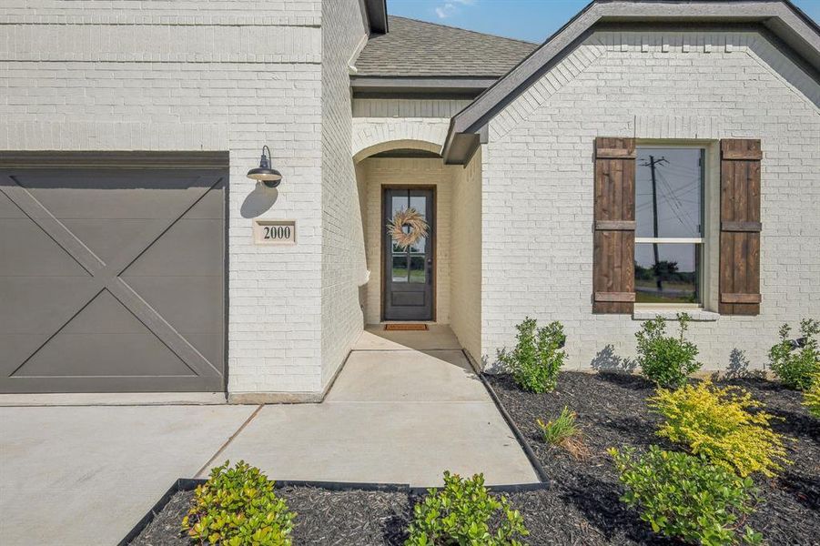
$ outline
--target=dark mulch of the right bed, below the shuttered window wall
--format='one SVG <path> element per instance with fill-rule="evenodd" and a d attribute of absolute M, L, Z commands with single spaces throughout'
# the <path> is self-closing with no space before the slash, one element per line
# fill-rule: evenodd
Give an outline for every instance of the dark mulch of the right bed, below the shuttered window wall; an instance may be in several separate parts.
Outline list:
<path fill-rule="evenodd" d="M 512 420 L 529 441 L 552 489 L 510 495 L 531 531 L 531 544 L 670 544 L 653 535 L 633 511 L 618 501 L 623 490 L 605 450 L 655 443 L 673 448 L 654 435 L 658 419 L 645 399 L 652 386 L 621 373 L 563 372 L 549 394 L 522 392 L 509 376 L 488 376 Z M 765 409 L 785 420 L 774 428 L 795 438 L 789 457 L 795 464 L 777 479 L 756 480 L 764 503 L 748 524 L 770 544 L 820 544 L 820 424 L 801 406 L 798 392 L 761 379 L 729 381 L 752 392 Z M 550 420 L 564 406 L 578 414 L 592 458 L 575 460 L 544 444 L 536 419 Z"/>

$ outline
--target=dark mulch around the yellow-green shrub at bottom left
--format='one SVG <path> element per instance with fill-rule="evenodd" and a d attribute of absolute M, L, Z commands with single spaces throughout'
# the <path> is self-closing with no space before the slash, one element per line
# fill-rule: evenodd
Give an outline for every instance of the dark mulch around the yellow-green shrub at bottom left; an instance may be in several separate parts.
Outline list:
<path fill-rule="evenodd" d="M 284 487 L 277 492 L 298 514 L 294 544 L 392 546 L 403 544 L 407 538 L 405 530 L 412 512 L 407 493 L 313 487 Z M 193 491 L 174 495 L 131 546 L 188 546 L 191 542 L 179 532 L 179 524 L 193 495 Z"/>

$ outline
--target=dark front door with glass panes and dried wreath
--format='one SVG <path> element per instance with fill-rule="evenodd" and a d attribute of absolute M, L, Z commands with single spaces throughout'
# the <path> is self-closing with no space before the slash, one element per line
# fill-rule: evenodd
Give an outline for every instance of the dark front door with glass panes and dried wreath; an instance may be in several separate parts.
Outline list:
<path fill-rule="evenodd" d="M 385 188 L 382 205 L 385 320 L 432 320 L 435 192 Z"/>

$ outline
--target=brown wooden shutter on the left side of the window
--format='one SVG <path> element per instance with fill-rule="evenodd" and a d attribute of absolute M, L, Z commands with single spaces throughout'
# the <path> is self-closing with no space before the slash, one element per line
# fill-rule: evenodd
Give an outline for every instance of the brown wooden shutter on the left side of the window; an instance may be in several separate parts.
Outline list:
<path fill-rule="evenodd" d="M 632 313 L 635 302 L 635 139 L 595 139 L 592 312 Z"/>

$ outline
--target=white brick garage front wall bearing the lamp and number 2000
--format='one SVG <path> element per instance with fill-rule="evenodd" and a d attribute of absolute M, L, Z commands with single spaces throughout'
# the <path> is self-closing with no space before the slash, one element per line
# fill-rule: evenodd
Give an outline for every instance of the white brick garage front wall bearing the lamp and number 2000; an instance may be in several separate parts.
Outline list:
<path fill-rule="evenodd" d="M 5 0 L 0 23 L 0 149 L 229 150 L 228 389 L 318 391 L 319 0 Z M 278 192 L 245 177 L 264 144 Z M 255 246 L 250 217 L 299 244 Z"/>

